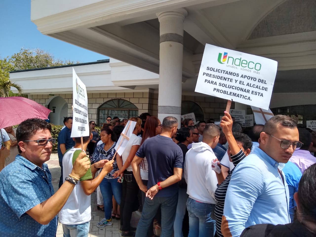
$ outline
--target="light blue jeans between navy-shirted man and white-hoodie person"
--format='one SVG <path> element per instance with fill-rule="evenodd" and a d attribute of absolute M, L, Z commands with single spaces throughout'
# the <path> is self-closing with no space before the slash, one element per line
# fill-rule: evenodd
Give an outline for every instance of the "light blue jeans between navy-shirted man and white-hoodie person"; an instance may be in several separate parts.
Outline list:
<path fill-rule="evenodd" d="M 185 215 L 186 200 L 188 199 L 188 196 L 189 195 L 186 194 L 186 188 L 179 188 L 176 218 L 173 223 L 174 237 L 183 237 L 182 222 Z"/>

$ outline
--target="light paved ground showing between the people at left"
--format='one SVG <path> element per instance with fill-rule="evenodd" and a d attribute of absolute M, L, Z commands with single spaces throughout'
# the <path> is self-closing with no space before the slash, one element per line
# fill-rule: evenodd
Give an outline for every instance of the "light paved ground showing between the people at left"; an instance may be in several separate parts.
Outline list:
<path fill-rule="evenodd" d="M 60 167 L 58 163 L 58 155 L 57 152 L 51 155 L 51 159 L 46 162 L 50 172 L 52 173 L 52 184 L 55 192 L 58 190 L 58 183 L 60 177 Z M 106 226 L 105 228 L 98 228 L 97 223 L 100 222 L 104 218 L 104 212 L 97 209 L 97 198 L 96 191 L 91 194 L 91 221 L 90 221 L 90 230 L 89 237 L 94 236 L 102 236 L 102 237 L 119 237 L 121 234 L 119 233 L 119 225 L 120 221 L 113 220 L 112 226 Z M 139 212 L 133 212 L 131 219 L 131 226 L 137 227 L 137 223 L 140 218 Z M 56 237 L 63 237 L 63 227 L 58 219 L 58 227 Z"/>

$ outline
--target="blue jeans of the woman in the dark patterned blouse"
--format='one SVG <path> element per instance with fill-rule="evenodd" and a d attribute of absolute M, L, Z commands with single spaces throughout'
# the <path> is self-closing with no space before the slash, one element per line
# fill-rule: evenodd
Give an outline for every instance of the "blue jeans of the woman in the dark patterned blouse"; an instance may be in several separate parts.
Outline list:
<path fill-rule="evenodd" d="M 122 198 L 122 184 L 118 179 L 103 179 L 100 183 L 100 191 L 103 196 L 104 214 L 107 220 L 111 219 L 112 195 L 115 201 L 120 205 Z"/>

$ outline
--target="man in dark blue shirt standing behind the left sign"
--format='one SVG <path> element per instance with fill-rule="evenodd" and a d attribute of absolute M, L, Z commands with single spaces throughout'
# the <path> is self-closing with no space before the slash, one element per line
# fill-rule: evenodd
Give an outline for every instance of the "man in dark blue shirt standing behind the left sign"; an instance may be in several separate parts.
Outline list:
<path fill-rule="evenodd" d="M 74 140 L 70 137 L 72 129 L 72 117 L 65 119 L 65 128 L 58 133 L 57 153 L 59 166 L 61 167 L 61 174 L 58 187 L 63 184 L 63 155 L 69 148 L 75 145 Z"/>

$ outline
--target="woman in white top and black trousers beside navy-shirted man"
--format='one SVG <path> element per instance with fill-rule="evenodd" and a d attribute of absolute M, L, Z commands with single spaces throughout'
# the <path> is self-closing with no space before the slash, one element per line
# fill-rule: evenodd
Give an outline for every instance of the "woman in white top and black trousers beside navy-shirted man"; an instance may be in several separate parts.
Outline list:
<path fill-rule="evenodd" d="M 124 173 L 122 182 L 122 200 L 120 204 L 121 213 L 121 227 L 122 236 L 133 236 L 133 231 L 136 228 L 131 228 L 131 217 L 132 212 L 138 210 L 138 185 L 136 179 L 133 175 L 133 169 L 131 167 L 131 162 L 136 155 L 136 152 L 140 146 L 141 137 L 137 137 L 137 134 L 141 131 L 142 120 L 140 118 L 132 117 L 129 120 L 136 122 L 133 129 L 133 134 L 131 135 L 126 148 L 122 153 L 123 167 L 116 171 L 113 176 L 119 177 Z M 131 129 L 131 128 L 130 128 Z"/>

